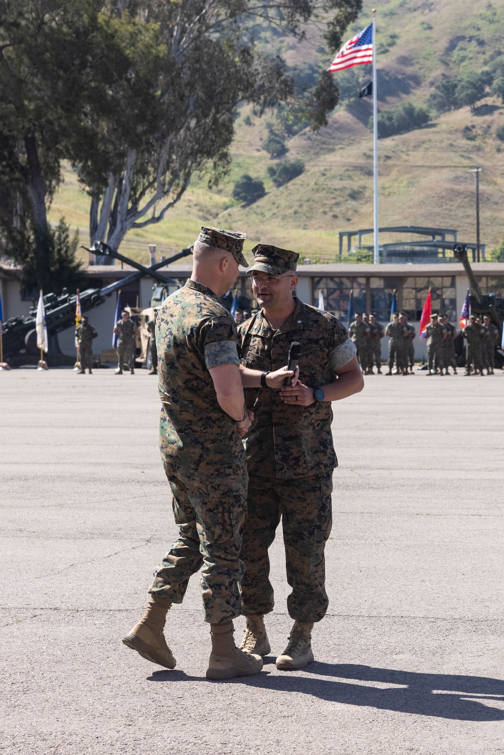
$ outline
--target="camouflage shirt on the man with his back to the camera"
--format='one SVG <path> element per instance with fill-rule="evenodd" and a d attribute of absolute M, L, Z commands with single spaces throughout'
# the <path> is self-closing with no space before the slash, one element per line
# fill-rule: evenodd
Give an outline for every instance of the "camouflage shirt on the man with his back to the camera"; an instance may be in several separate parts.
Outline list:
<path fill-rule="evenodd" d="M 189 279 L 159 308 L 156 347 L 165 469 L 190 479 L 243 477 L 237 423 L 218 405 L 209 373 L 240 364 L 233 317 L 209 288 Z"/>

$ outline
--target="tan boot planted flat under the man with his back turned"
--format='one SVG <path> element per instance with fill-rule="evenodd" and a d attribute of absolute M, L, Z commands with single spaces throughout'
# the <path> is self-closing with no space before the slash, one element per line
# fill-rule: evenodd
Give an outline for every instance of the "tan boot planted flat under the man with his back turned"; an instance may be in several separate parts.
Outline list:
<path fill-rule="evenodd" d="M 206 678 L 213 680 L 233 679 L 234 676 L 252 676 L 262 668 L 260 655 L 244 653 L 234 644 L 233 622 L 210 624 L 212 652 Z"/>

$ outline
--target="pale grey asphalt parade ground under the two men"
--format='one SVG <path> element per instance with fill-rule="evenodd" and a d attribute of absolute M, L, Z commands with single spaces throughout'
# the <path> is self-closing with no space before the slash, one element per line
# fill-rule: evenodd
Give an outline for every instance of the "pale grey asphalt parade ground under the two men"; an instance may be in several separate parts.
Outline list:
<path fill-rule="evenodd" d="M 156 377 L 0 373 L 0 752 L 504 753 L 504 376 L 366 377 L 333 404 L 339 457 L 315 662 L 209 682 L 197 578 L 178 664 L 122 645 L 175 539 Z M 235 623 L 238 642 L 243 619 Z"/>

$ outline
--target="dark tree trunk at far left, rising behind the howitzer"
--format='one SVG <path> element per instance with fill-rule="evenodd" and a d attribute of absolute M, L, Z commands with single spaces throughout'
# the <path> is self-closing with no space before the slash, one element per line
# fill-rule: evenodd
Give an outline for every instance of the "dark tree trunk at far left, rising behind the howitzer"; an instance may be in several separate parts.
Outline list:
<path fill-rule="evenodd" d="M 32 205 L 33 234 L 35 236 L 37 285 L 45 294 L 51 289 L 51 234 L 45 208 L 45 181 L 42 175 L 36 138 L 24 137 L 28 181 L 26 188 Z"/>

